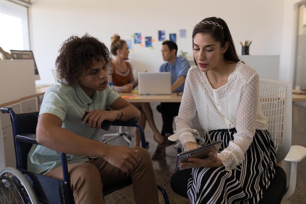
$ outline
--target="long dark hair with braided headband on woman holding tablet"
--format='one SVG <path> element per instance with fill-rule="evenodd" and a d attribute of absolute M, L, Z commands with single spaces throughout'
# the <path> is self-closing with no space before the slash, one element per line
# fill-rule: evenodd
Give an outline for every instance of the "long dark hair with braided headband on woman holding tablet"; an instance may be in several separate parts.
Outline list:
<path fill-rule="evenodd" d="M 217 42 L 220 42 L 221 47 L 225 45 L 226 42 L 229 46 L 223 57 L 228 62 L 239 62 L 240 59 L 237 55 L 235 45 L 233 42 L 232 35 L 228 29 L 227 24 L 223 19 L 217 17 L 205 18 L 201 22 L 197 23 L 192 33 L 192 46 L 194 47 L 194 38 L 197 33 L 210 34 Z M 197 65 L 196 59 L 195 63 Z"/>

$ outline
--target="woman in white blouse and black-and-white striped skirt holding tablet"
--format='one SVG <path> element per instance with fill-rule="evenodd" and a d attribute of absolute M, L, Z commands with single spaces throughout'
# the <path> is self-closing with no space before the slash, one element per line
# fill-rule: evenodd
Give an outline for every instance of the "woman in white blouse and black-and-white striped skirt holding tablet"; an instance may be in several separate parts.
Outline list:
<path fill-rule="evenodd" d="M 199 147 L 191 120 L 198 115 L 205 143 L 222 140 L 217 155 L 190 158 L 192 204 L 257 204 L 275 174 L 276 153 L 259 100 L 259 76 L 237 56 L 227 24 L 211 17 L 193 30 L 197 66 L 189 69 L 175 118 L 185 150 Z"/>

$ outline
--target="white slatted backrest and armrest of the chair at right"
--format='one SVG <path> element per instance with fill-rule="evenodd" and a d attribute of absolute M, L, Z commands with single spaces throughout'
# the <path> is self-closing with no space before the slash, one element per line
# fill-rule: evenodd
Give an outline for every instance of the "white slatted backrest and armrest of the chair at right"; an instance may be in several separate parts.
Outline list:
<path fill-rule="evenodd" d="M 285 192 L 281 197 L 281 199 L 284 200 L 289 198 L 293 194 L 296 186 L 297 162 L 301 161 L 306 156 L 305 147 L 298 145 L 291 146 L 291 84 L 282 81 L 261 79 L 260 97 L 262 112 L 268 118 L 269 121 L 268 131 L 274 139 L 277 162 L 279 163 L 283 159 L 291 162 L 289 185 L 285 189 Z M 278 175 L 276 174 L 274 180 L 277 179 L 277 176 Z M 264 197 L 270 196 L 271 198 L 273 198 L 273 195 L 271 195 L 271 193 L 273 192 L 267 192 L 267 195 L 265 193 Z"/>

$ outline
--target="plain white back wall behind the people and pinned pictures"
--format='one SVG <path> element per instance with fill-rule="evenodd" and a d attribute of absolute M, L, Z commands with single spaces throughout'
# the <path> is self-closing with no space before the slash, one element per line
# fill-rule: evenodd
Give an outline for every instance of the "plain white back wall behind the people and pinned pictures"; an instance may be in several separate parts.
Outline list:
<path fill-rule="evenodd" d="M 134 32 L 141 32 L 143 38 L 152 36 L 156 40 L 154 49 L 133 45 L 130 61 L 138 71 L 157 71 L 163 63 L 157 31 L 165 30 L 166 38 L 169 33 L 177 33 L 178 51 L 187 51 L 188 58 L 192 59 L 193 27 L 210 16 L 220 17 L 228 23 L 238 54 L 241 53 L 239 42 L 252 40 L 251 55 L 280 55 L 282 47 L 287 46 L 281 42 L 284 4 L 289 1 L 31 0 L 31 46 L 42 79 L 40 83 L 53 82 L 51 69 L 60 45 L 70 35 L 82 36 L 87 32 L 108 47 L 114 33 L 122 39 L 131 39 Z M 186 39 L 178 38 L 179 29 L 187 30 Z"/>

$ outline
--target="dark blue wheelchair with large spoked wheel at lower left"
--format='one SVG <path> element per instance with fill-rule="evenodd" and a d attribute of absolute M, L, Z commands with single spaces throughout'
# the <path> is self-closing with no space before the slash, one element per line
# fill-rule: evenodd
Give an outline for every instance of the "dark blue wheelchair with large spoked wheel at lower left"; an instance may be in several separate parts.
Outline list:
<path fill-rule="evenodd" d="M 39 112 L 16 114 L 11 108 L 1 108 L 1 113 L 9 113 L 14 137 L 16 168 L 6 167 L 0 171 L 0 203 L 4 204 L 74 204 L 68 175 L 66 154 L 60 153 L 64 180 L 57 180 L 27 171 L 27 154 L 36 141 L 36 125 Z M 137 124 L 137 119 L 113 121 L 112 126 L 135 127 L 141 133 L 142 147 L 146 140 L 144 131 Z M 116 190 L 131 185 L 122 181 L 103 189 L 106 196 Z M 165 204 L 170 204 L 167 192 L 157 186 L 163 194 Z"/>

